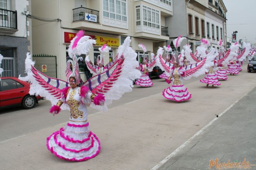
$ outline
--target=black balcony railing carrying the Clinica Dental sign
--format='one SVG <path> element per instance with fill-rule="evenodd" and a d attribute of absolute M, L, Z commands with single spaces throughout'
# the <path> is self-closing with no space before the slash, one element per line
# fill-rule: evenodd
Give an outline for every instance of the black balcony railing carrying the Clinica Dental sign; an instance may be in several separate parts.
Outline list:
<path fill-rule="evenodd" d="M 90 20 L 90 16 L 88 14 L 96 15 L 96 21 Z M 82 5 L 79 8 L 73 9 L 73 22 L 81 21 L 81 20 L 100 23 L 99 22 L 99 11 L 96 11 L 94 9 L 84 8 L 84 7 L 82 7 Z"/>

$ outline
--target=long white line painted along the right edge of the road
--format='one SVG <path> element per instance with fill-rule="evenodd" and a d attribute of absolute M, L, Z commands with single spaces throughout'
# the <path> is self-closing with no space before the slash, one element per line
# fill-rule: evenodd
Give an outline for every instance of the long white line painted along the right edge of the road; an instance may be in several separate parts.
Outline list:
<path fill-rule="evenodd" d="M 218 117 L 215 117 L 211 122 L 209 122 L 205 127 L 200 129 L 196 134 L 194 134 L 191 138 L 189 138 L 186 142 L 181 144 L 177 149 L 175 149 L 170 155 L 165 157 L 161 162 L 159 162 L 157 165 L 155 165 L 151 170 L 157 170 L 160 168 L 161 165 L 166 163 L 169 159 L 171 159 L 177 152 L 179 152 L 182 148 L 184 148 L 188 143 L 190 143 L 194 138 L 196 138 L 198 135 L 200 135 L 206 128 L 208 128 L 213 122 L 215 122 L 220 116 L 222 116 L 226 111 L 228 111 L 230 108 L 232 108 L 237 102 L 239 102 L 244 96 L 246 96 L 251 90 L 253 90 L 255 87 L 250 89 L 247 93 L 245 93 L 243 96 L 241 96 L 237 101 L 235 101 L 233 104 L 231 104 L 230 107 L 228 107 L 226 110 L 224 110 L 221 114 L 218 115 Z"/>

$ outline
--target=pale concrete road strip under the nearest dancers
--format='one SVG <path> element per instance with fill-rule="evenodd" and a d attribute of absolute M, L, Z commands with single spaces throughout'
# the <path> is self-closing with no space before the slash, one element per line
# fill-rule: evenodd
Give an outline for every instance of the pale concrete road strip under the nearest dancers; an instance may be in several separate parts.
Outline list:
<path fill-rule="evenodd" d="M 177 103 L 166 100 L 161 95 L 162 89 L 160 89 L 157 94 L 110 108 L 107 113 L 90 114 L 88 116 L 90 129 L 100 139 L 101 151 L 98 156 L 85 162 L 63 161 L 46 149 L 46 137 L 65 126 L 67 122 L 1 141 L 0 169 L 151 169 L 212 121 L 216 114 L 222 113 L 241 96 L 253 89 L 256 86 L 256 79 L 255 74 L 247 73 L 246 66 L 243 66 L 243 72 L 237 76 L 229 76 L 228 81 L 221 83 L 220 87 L 206 88 L 205 84 L 199 81 L 188 84 L 184 81 L 185 87 L 192 94 L 189 101 Z M 166 87 L 168 87 L 167 84 Z M 143 88 L 140 89 L 143 90 Z M 156 90 L 157 88 L 153 86 L 151 89 Z M 243 121 L 243 118 L 241 116 L 240 121 Z M 58 119 L 58 115 L 52 119 Z M 220 126 L 219 128 L 225 128 L 225 125 L 235 122 L 232 117 L 227 124 L 223 122 L 223 127 Z M 27 124 L 29 125 L 30 122 Z M 20 128 L 22 129 L 22 127 Z M 242 134 L 239 131 L 241 129 L 237 129 L 236 131 L 225 130 L 233 133 L 234 136 L 228 136 L 224 133 L 223 135 L 228 137 L 219 140 L 226 139 L 235 142 L 238 139 L 235 137 L 236 135 L 247 135 Z M 244 129 L 246 128 L 244 127 Z M 208 143 L 212 142 L 208 141 Z M 208 145 L 204 145 L 204 148 L 210 149 L 207 147 Z M 195 151 L 197 150 L 199 149 Z M 242 150 L 235 151 L 243 153 Z M 222 154 L 218 155 L 218 152 L 212 152 L 213 158 L 217 156 L 223 158 Z M 177 162 L 178 159 L 174 160 L 173 163 Z M 205 161 L 205 159 L 202 160 Z M 194 164 L 198 161 L 199 158 Z M 189 161 L 185 161 L 185 163 L 189 164 Z M 251 163 L 254 162 L 251 161 Z"/>

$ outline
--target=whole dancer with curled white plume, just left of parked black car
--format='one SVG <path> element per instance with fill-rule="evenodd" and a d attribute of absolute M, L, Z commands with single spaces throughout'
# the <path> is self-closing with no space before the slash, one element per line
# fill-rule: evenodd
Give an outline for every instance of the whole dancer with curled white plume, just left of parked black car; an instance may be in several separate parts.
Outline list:
<path fill-rule="evenodd" d="M 142 60 L 142 64 L 140 64 L 140 67 L 139 67 L 141 71 L 141 76 L 138 80 L 135 81 L 135 84 L 141 87 L 152 87 L 154 83 L 151 81 L 151 79 L 148 76 L 149 64 L 145 56 L 145 52 L 147 52 L 147 49 L 143 44 L 139 44 L 138 46 L 143 49 L 143 60 Z"/>

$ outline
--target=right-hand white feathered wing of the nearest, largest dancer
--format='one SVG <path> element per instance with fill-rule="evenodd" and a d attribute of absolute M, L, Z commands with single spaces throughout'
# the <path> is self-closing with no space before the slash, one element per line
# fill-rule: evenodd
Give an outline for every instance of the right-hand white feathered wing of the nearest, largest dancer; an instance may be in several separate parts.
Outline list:
<path fill-rule="evenodd" d="M 132 91 L 133 80 L 138 79 L 141 74 L 136 69 L 139 63 L 136 61 L 137 54 L 129 47 L 130 41 L 128 36 L 118 50 L 118 58 L 107 71 L 92 77 L 83 84 L 89 87 L 92 93 L 105 96 L 103 106 L 91 103 L 91 107 L 107 111 L 107 106 L 113 100 L 118 100 L 124 93 Z"/>

